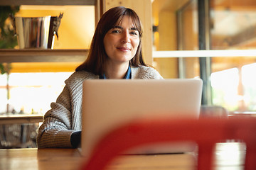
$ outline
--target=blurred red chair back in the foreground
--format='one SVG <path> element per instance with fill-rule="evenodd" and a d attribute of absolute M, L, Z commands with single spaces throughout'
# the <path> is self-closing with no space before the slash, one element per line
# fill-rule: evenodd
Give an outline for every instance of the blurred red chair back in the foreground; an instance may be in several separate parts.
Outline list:
<path fill-rule="evenodd" d="M 215 143 L 242 140 L 246 144 L 245 169 L 255 170 L 255 118 L 201 118 L 199 120 L 137 120 L 106 135 L 95 147 L 85 170 L 100 170 L 128 149 L 156 143 L 194 141 L 198 144 L 198 170 L 213 168 Z M 100 160 L 100 161 L 99 161 Z"/>

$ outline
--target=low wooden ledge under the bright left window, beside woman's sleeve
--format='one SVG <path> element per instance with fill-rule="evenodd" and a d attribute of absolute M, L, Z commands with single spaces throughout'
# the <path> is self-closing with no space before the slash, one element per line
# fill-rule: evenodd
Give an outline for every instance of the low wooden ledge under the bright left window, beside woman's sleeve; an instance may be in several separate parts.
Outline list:
<path fill-rule="evenodd" d="M 40 122 L 43 122 L 43 115 L 32 115 L 32 114 L 0 115 L 0 125 L 40 123 Z"/>

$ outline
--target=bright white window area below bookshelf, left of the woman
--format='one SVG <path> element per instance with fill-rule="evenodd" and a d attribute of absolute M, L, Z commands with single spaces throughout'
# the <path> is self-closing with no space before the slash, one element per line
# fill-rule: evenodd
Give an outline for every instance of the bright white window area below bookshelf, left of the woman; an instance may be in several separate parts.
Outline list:
<path fill-rule="evenodd" d="M 65 79 L 72 72 L 45 72 L 45 73 L 11 73 L 9 75 L 9 95 L 7 101 L 6 75 L 0 79 L 0 113 L 6 113 L 7 103 L 9 111 L 13 113 L 40 113 L 44 114 L 50 108 L 65 86 Z"/>

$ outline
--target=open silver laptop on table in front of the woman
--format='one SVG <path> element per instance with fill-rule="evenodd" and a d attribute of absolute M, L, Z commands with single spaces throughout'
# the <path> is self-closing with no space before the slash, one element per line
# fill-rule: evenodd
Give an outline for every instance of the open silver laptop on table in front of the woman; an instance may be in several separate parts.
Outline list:
<path fill-rule="evenodd" d="M 95 144 L 107 132 L 137 118 L 198 118 L 202 85 L 201 79 L 85 80 L 82 94 L 82 156 L 90 155 Z M 151 148 L 136 152 L 171 151 Z"/>

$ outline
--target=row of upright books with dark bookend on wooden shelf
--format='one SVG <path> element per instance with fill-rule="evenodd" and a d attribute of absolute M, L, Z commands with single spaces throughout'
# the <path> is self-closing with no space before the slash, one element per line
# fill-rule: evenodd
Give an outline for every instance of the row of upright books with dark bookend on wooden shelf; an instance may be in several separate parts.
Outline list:
<path fill-rule="evenodd" d="M 42 48 L 53 49 L 54 35 L 58 36 L 60 26 L 59 17 L 14 17 L 11 16 L 12 25 L 17 35 L 18 47 L 20 49 Z"/>

